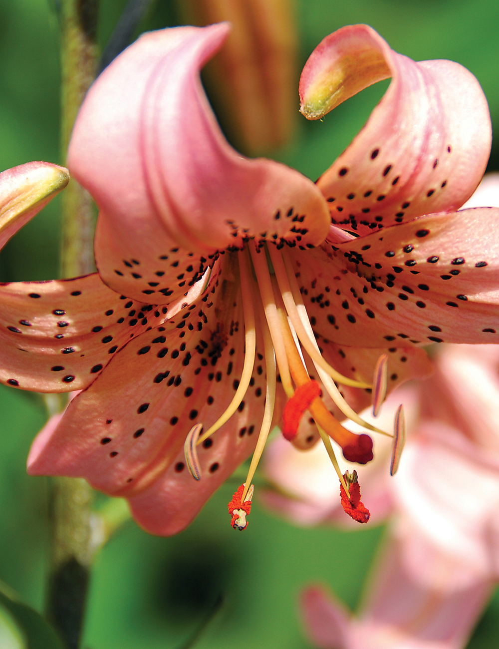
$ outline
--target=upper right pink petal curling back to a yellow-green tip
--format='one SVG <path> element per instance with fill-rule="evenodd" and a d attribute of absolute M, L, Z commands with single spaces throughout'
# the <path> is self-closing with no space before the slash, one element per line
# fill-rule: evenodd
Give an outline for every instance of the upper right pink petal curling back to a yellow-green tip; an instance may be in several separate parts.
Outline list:
<path fill-rule="evenodd" d="M 333 223 L 359 233 L 456 210 L 485 171 L 491 147 L 487 101 L 452 61 L 414 62 L 367 25 L 326 36 L 300 80 L 302 112 L 318 119 L 363 88 L 392 82 L 369 121 L 317 184 Z"/>

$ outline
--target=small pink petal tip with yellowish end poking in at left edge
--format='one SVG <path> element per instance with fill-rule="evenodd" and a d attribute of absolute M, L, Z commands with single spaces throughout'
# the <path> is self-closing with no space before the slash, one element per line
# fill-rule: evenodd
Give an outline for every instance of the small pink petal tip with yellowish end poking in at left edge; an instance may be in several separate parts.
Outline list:
<path fill-rule="evenodd" d="M 0 173 L 0 248 L 49 202 L 69 180 L 67 169 L 27 162 Z"/>

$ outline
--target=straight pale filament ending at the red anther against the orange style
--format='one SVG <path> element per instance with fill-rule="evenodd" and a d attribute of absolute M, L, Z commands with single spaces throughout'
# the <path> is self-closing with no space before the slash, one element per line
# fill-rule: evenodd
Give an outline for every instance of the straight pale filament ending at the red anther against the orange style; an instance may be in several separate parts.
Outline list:
<path fill-rule="evenodd" d="M 278 324 L 278 314 L 274 293 L 272 290 L 272 282 L 269 274 L 269 267 L 267 266 L 267 258 L 262 252 L 257 252 L 254 246 L 250 247 L 251 259 L 258 281 L 258 289 L 262 296 L 263 310 L 265 311 L 265 318 L 269 325 L 269 331 L 274 345 L 276 354 L 276 361 L 279 368 L 282 387 L 286 392 L 287 398 L 292 397 L 294 390 L 291 384 L 291 375 L 289 374 L 289 365 L 287 363 L 286 349 L 280 333 L 280 326 Z"/>

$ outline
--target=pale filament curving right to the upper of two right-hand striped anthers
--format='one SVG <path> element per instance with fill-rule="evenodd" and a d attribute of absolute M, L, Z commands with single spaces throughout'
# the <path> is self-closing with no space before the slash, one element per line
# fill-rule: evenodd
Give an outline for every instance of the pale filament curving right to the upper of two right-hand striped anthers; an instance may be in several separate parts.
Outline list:
<path fill-rule="evenodd" d="M 334 367 L 331 367 L 331 365 L 326 360 L 324 360 L 324 358 L 321 356 L 321 353 L 317 349 L 315 349 L 315 347 L 311 344 L 310 337 L 308 336 L 303 326 L 303 323 L 297 311 L 297 305 L 295 304 L 295 300 L 293 299 L 291 286 L 289 286 L 289 280 L 287 277 L 286 268 L 284 267 L 282 256 L 280 252 L 276 250 L 276 248 L 273 245 L 269 246 L 269 254 L 271 256 L 271 260 L 274 266 L 274 271 L 276 273 L 276 278 L 279 284 L 280 293 L 282 295 L 282 299 L 284 300 L 284 305 L 286 306 L 286 311 L 289 314 L 289 317 L 291 318 L 291 322 L 295 327 L 300 342 L 302 343 L 303 347 L 305 348 L 307 354 L 310 356 L 313 363 L 314 364 L 317 363 L 317 365 L 319 365 L 321 369 L 323 369 L 327 374 L 329 374 L 331 378 L 333 378 L 335 381 L 345 386 L 361 387 L 361 388 L 372 387 L 371 384 L 369 383 L 356 381 L 353 378 L 348 378 L 347 376 L 343 376 L 343 374 L 337 372 L 334 369 Z"/>

